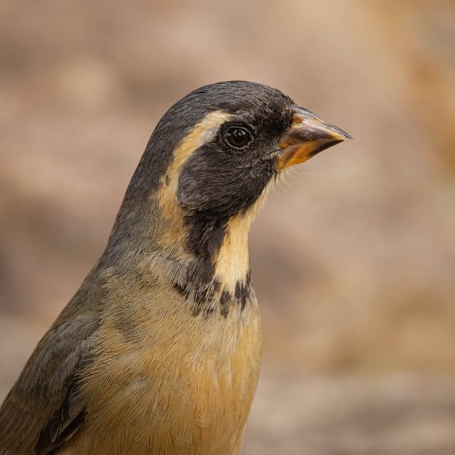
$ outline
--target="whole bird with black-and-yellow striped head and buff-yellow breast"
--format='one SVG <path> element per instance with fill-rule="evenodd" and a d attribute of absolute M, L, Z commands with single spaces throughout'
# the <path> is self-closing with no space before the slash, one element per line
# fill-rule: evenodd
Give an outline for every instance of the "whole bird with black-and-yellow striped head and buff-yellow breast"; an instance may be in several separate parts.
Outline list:
<path fill-rule="evenodd" d="M 170 107 L 0 408 L 0 454 L 240 454 L 261 360 L 250 225 L 290 166 L 345 139 L 256 82 Z"/>

